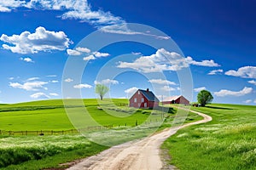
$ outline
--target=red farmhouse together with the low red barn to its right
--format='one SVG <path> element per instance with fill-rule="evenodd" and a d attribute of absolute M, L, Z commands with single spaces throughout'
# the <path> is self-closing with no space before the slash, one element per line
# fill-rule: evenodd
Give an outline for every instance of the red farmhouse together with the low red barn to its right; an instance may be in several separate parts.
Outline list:
<path fill-rule="evenodd" d="M 154 95 L 153 92 L 146 90 L 138 89 L 135 94 L 129 99 L 130 107 L 136 108 L 154 108 L 159 106 L 160 100 Z M 184 98 L 183 95 L 172 96 L 171 98 L 162 101 L 163 105 L 167 104 L 183 104 L 189 105 L 189 100 Z"/>

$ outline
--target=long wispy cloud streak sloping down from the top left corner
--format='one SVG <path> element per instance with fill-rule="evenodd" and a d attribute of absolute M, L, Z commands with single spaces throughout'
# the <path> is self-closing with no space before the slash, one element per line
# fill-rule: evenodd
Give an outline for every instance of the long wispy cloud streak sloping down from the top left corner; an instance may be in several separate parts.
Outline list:
<path fill-rule="evenodd" d="M 105 32 L 126 35 L 140 34 L 155 37 L 157 39 L 170 39 L 170 37 L 167 36 L 157 36 L 144 32 L 131 31 L 127 27 L 125 20 L 123 20 L 119 16 L 114 16 L 110 12 L 104 12 L 101 9 L 92 10 L 87 0 L 30 0 L 27 2 L 20 0 L 0 1 L 0 12 L 10 12 L 11 10 L 20 7 L 34 8 L 37 10 L 59 10 L 61 12 L 64 11 L 62 14 L 60 14 L 60 16 L 58 16 L 61 19 L 80 20 L 82 22 L 87 22 L 91 26 L 95 26 L 96 28 Z"/>

